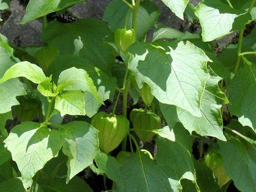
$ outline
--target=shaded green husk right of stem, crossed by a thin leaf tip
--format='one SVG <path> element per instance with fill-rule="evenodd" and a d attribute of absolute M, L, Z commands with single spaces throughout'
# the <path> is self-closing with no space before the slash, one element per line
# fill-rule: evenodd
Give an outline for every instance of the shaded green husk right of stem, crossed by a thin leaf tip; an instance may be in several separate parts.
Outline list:
<path fill-rule="evenodd" d="M 133 109 L 130 114 L 134 129 L 156 130 L 161 126 L 161 117 L 145 109 Z M 135 131 L 142 142 L 146 142 L 154 136 L 152 132 Z"/>

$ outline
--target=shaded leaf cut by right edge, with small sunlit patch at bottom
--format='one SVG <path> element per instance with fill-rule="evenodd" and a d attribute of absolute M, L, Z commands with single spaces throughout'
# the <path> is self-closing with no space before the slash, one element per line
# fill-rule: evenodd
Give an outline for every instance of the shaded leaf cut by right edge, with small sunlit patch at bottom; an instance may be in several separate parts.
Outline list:
<path fill-rule="evenodd" d="M 256 66 L 245 59 L 245 66 L 239 69 L 230 84 L 230 113 L 238 117 L 243 126 L 250 126 L 256 132 Z"/>

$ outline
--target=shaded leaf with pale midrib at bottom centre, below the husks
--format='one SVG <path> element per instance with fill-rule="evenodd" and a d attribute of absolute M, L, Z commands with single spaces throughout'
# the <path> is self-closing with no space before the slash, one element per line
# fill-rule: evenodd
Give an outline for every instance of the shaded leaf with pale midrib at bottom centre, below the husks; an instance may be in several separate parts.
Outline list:
<path fill-rule="evenodd" d="M 113 191 L 181 191 L 177 175 L 166 174 L 148 155 L 140 151 L 125 158 L 121 166 L 122 183 Z"/>

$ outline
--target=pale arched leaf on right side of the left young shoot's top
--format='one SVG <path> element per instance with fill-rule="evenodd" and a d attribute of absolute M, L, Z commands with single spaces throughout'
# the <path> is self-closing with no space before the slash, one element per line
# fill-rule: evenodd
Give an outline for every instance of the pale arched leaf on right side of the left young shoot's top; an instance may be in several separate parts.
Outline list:
<path fill-rule="evenodd" d="M 84 69 L 72 67 L 62 71 L 58 79 L 58 90 L 60 92 L 77 90 L 90 92 L 99 103 L 103 103 L 99 97 L 96 87 L 94 86 L 92 78 L 89 77 Z"/>

